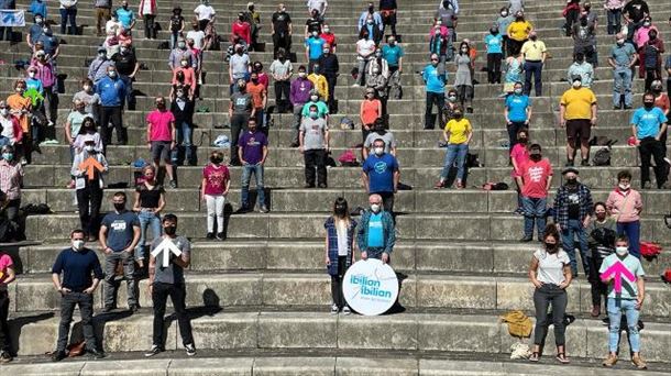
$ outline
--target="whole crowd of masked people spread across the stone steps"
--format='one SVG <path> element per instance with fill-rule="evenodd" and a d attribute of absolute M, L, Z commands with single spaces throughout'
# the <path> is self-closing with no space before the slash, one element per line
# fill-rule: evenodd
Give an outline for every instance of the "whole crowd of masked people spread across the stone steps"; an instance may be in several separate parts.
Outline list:
<path fill-rule="evenodd" d="M 98 221 L 105 176 L 109 165 L 107 151 L 112 145 L 112 129 L 117 132 L 117 145 L 125 145 L 128 131 L 123 125 L 124 110 L 135 109 L 133 81 L 141 70 L 133 38 L 139 19 L 144 24 L 144 38 L 156 40 L 157 0 L 141 0 L 138 14 L 123 0 L 112 10 L 110 0 L 97 0 L 96 32 L 105 40 L 90 62 L 87 78 L 81 80 L 81 91 L 75 93 L 73 110 L 67 115 L 65 141 L 69 145 L 73 167 L 72 183 L 75 189 L 81 229 L 70 234 L 72 247 L 64 250 L 56 259 L 53 281 L 63 295 L 62 321 L 58 346 L 53 360 L 66 356 L 65 345 L 73 311 L 79 307 L 87 349 L 97 357 L 103 354 L 95 347 L 92 297 L 99 283 L 106 288 L 105 312 L 116 308 L 114 285 L 122 275 L 128 287 L 128 303 L 132 312 L 139 306 L 139 270 L 146 268 L 154 309 L 153 346 L 146 356 L 164 350 L 163 316 L 169 296 L 179 323 L 179 331 L 187 351 L 196 349 L 190 324 L 185 313 L 185 287 L 183 269 L 190 263 L 189 241 L 176 234 L 177 218 L 163 214 L 166 195 L 160 183 L 160 172 L 165 169 L 166 185 L 177 188 L 176 165 L 196 164 L 194 153 L 194 112 L 204 85 L 204 51 L 218 47 L 222 40 L 216 30 L 217 12 L 208 0 L 194 10 L 193 22 L 184 16 L 179 5 L 173 8 L 169 18 L 168 66 L 172 74 L 170 91 L 157 96 L 155 109 L 146 115 L 146 147 L 150 164 L 142 168 L 138 179 L 133 204 L 127 209 L 127 196 L 114 193 L 114 210 Z M 61 1 L 61 33 L 77 34 L 76 1 Z M 613 107 L 632 109 L 632 81 L 638 66 L 640 79 L 645 79 L 642 107 L 636 109 L 629 125 L 631 145 L 640 154 L 641 188 L 650 185 L 649 169 L 654 159 L 654 181 L 658 188 L 668 188 L 667 177 L 671 163 L 666 158 L 667 123 L 671 104 L 662 85 L 663 42 L 658 25 L 652 24 L 649 8 L 644 0 L 606 0 L 607 32 L 615 43 L 607 58 L 613 68 Z M 264 165 L 268 157 L 270 101 L 268 88 L 274 85 L 275 113 L 293 113 L 292 147 L 297 147 L 305 161 L 305 188 L 327 188 L 327 159 L 330 154 L 331 114 L 338 113 L 338 77 L 341 65 L 338 59 L 338 36 L 328 22 L 328 2 L 309 0 L 304 29 L 294 27 L 287 7 L 279 3 L 270 20 L 262 23 L 254 3 L 250 2 L 238 13 L 228 36 L 230 47 L 224 54 L 230 80 L 230 162 L 221 151 L 210 154 L 202 169 L 200 199 L 207 207 L 208 240 L 224 240 L 224 206 L 231 187 L 229 166 L 241 166 L 241 204 L 237 213 L 250 212 L 254 207 L 267 213 L 268 203 L 264 189 Z M 343 198 L 333 203 L 332 215 L 326 223 L 326 265 L 331 276 L 332 313 L 351 312 L 342 296 L 342 278 L 356 258 L 391 261 L 396 240 L 394 200 L 399 188 L 400 167 L 396 158 L 396 140 L 389 129 L 389 101 L 403 98 L 404 48 L 397 34 L 395 0 L 381 0 L 378 7 L 367 3 L 356 22 L 356 66 L 353 87 L 361 87 L 363 99 L 359 120 L 362 131 L 362 183 L 369 193 L 370 208 L 359 220 L 351 218 L 351 208 Z M 2 125 L 2 159 L 0 161 L 0 188 L 6 195 L 7 215 L 15 222 L 21 202 L 23 165 L 31 163 L 31 154 L 42 143 L 51 143 L 48 130 L 55 124 L 58 112 L 59 38 L 51 30 L 46 7 L 34 0 L 30 12 L 34 24 L 26 34 L 31 48 L 25 78 L 14 84 L 15 93 L 0 101 Z M 581 166 L 590 166 L 590 140 L 596 126 L 598 106 L 591 87 L 597 79 L 594 68 L 598 56 L 596 48 L 597 15 L 590 1 L 570 0 L 563 9 L 563 30 L 573 40 L 574 63 L 568 68 L 570 88 L 559 102 L 559 125 L 566 130 L 566 163 L 562 170 L 564 184 L 558 188 L 553 204 L 548 195 L 553 169 L 542 157 L 542 146 L 532 143 L 534 111 L 531 89 L 536 97 L 543 95 L 543 66 L 552 46 L 547 46 L 526 15 L 524 1 L 516 0 L 502 8 L 484 36 L 487 82 L 503 85 L 502 102 L 508 133 L 508 153 L 513 166 L 512 177 L 518 188 L 517 213 L 524 215 L 521 242 L 537 239 L 542 246 L 534 253 L 529 277 L 536 286 L 534 302 L 537 309 L 537 328 L 531 361 L 538 361 L 540 346 L 547 333 L 548 306 L 552 306 L 558 345 L 557 358 L 568 363 L 563 335 L 563 314 L 566 307 L 565 288 L 578 277 L 575 248 L 585 276 L 592 284 L 592 316 L 598 317 L 602 298 L 609 290 L 604 306 L 610 325 L 610 354 L 604 365 L 617 361 L 616 350 L 622 312 L 628 322 L 632 362 L 644 368 L 638 353 L 636 321 L 644 301 L 644 270 L 640 258 L 640 193 L 631 188 L 632 176 L 622 170 L 617 187 L 606 202 L 592 200 L 587 186 L 580 183 L 580 170 L 574 167 L 578 150 Z M 296 15 L 296 13 L 294 14 Z M 473 104 L 477 48 L 474 41 L 459 40 L 459 1 L 441 0 L 437 4 L 428 34 L 426 51 L 430 63 L 420 71 L 426 85 L 426 112 L 424 128 L 432 130 L 438 121 L 443 128 L 446 156 L 443 169 L 436 189 L 444 188 L 451 169 L 457 167 L 455 187 L 466 187 L 465 161 L 474 135 L 474 125 L 466 114 L 477 111 Z M 624 18 L 624 24 L 622 23 Z M 67 26 L 69 23 L 69 27 Z M 7 27 L 2 29 L 2 32 Z M 187 32 L 188 30 L 188 32 Z M 273 60 L 267 73 L 262 62 L 254 62 L 250 52 L 262 49 L 261 36 L 267 31 L 273 41 Z M 10 30 L 11 33 L 11 30 Z M 296 35 L 295 35 L 296 34 Z M 0 33 L 0 37 L 2 33 Z M 295 40 L 305 47 L 306 64 L 296 63 Z M 449 84 L 448 64 L 455 67 Z M 671 77 L 671 57 L 664 69 Z M 296 73 L 297 77 L 294 77 Z M 671 92 L 671 78 L 667 81 Z M 437 113 L 432 113 L 433 106 Z M 111 126 L 110 126 L 111 125 Z M 86 166 L 86 167 L 85 167 Z M 89 166 L 97 166 L 96 168 Z M 252 174 L 256 185 L 256 203 L 250 197 Z M 552 208 L 551 213 L 549 207 Z M 547 225 L 547 218 L 552 223 Z M 148 236 L 147 229 L 151 231 Z M 575 242 L 578 239 L 578 242 Z M 106 254 L 105 270 L 95 251 L 85 242 L 99 242 Z M 182 252 L 163 265 L 152 251 L 172 242 Z M 358 252 L 355 252 L 358 251 Z M 167 252 L 167 251 L 166 251 Z M 617 259 L 622 261 L 638 279 L 628 296 L 615 296 L 613 283 L 607 285 L 600 273 Z M 161 264 L 161 265 L 157 265 Z M 4 272 L 8 270 L 8 272 Z M 0 308 L 4 307 L 3 331 L 7 331 L 7 284 L 14 279 L 11 258 L 0 257 Z M 63 276 L 62 276 L 63 275 Z M 632 292 L 631 292 L 632 291 Z M 6 335 L 7 338 L 7 335 Z M 0 360 L 10 358 L 9 351 Z"/>

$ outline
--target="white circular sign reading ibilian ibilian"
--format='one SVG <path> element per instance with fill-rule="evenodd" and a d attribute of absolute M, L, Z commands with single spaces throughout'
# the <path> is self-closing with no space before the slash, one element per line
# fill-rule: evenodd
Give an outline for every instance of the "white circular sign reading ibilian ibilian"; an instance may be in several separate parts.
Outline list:
<path fill-rule="evenodd" d="M 398 297 L 398 278 L 377 258 L 354 263 L 344 274 L 342 292 L 350 308 L 364 316 L 386 312 Z"/>

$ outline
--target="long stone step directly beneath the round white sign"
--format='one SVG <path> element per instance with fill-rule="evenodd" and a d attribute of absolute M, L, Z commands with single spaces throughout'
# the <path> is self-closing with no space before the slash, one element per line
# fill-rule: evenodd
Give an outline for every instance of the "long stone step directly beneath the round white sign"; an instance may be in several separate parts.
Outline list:
<path fill-rule="evenodd" d="M 20 355 L 37 355 L 52 351 L 56 342 L 57 319 L 48 314 L 16 318 L 20 325 L 10 325 Z M 145 313 L 100 314 L 94 320 L 107 352 L 145 351 L 151 345 L 152 317 Z M 75 324 L 77 325 L 77 324 Z M 381 317 L 333 316 L 327 312 L 217 312 L 193 311 L 191 325 L 196 346 L 202 350 L 254 349 L 342 349 L 404 350 L 410 352 L 441 351 L 479 354 L 508 353 L 518 341 L 508 334 L 494 314 L 398 313 Z M 384 331 L 380 331 L 380 325 Z M 175 324 L 167 328 L 166 350 L 177 343 Z M 578 319 L 566 328 L 569 355 L 602 358 L 606 353 L 607 328 L 598 320 Z M 468 339 L 464 334 L 468 333 Z M 646 322 L 641 331 L 645 356 L 650 362 L 669 362 L 671 325 Z M 552 332 L 548 334 L 547 354 L 554 352 Z M 75 334 L 72 341 L 80 338 Z M 15 341 L 15 340 L 14 340 Z M 620 353 L 627 354 L 627 341 Z"/>

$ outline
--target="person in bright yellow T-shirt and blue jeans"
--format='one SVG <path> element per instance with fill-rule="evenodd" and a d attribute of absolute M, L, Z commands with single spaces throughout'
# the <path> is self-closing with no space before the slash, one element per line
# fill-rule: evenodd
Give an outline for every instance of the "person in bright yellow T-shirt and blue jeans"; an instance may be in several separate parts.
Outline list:
<path fill-rule="evenodd" d="M 471 137 L 473 137 L 473 128 L 471 122 L 463 118 L 463 109 L 461 107 L 454 109 L 453 117 L 452 120 L 448 121 L 442 133 L 448 143 L 448 152 L 446 153 L 440 180 L 433 186 L 436 189 L 444 187 L 454 161 L 457 161 L 457 189 L 464 188 L 465 162 L 469 154 L 469 143 Z"/>

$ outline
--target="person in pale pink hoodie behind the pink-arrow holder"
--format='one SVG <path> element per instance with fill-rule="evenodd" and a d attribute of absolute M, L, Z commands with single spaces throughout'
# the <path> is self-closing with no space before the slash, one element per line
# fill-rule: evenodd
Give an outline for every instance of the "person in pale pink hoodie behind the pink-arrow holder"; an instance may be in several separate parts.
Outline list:
<path fill-rule="evenodd" d="M 629 253 L 640 258 L 640 212 L 644 201 L 640 193 L 631 189 L 629 170 L 617 174 L 617 187 L 608 195 L 606 209 L 617 222 L 617 234 L 625 234 L 629 239 Z"/>

